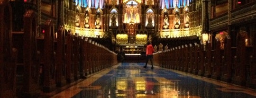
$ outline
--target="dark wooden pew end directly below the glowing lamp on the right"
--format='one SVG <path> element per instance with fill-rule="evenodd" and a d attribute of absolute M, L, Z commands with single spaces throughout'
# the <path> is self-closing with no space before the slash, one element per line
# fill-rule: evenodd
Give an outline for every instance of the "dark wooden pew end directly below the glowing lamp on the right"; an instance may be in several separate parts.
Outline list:
<path fill-rule="evenodd" d="M 212 74 L 212 67 L 211 67 L 211 44 L 210 41 L 207 41 L 206 43 L 206 55 L 205 55 L 206 61 L 205 63 L 205 71 L 204 76 L 205 77 L 211 77 Z"/>

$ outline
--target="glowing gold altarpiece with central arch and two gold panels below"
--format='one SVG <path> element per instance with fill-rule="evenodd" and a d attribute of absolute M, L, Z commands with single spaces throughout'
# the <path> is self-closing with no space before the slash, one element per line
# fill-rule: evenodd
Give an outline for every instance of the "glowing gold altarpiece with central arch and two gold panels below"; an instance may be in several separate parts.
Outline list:
<path fill-rule="evenodd" d="M 117 35 L 117 44 L 119 45 L 145 45 L 147 42 L 146 34 L 137 34 L 138 25 L 141 23 L 140 0 L 125 0 L 123 5 L 123 19 L 125 34 Z M 127 41 L 126 41 L 127 40 Z M 120 41 L 120 42 L 119 42 Z"/>

